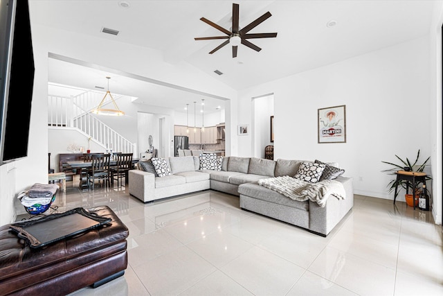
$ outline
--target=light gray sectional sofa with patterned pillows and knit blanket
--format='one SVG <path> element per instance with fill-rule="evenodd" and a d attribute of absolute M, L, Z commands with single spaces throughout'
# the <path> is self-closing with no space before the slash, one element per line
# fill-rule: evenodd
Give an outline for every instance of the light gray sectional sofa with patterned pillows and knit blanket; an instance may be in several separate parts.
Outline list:
<path fill-rule="evenodd" d="M 270 177 L 296 175 L 302 160 L 224 157 L 221 170 L 200 170 L 197 156 L 169 157 L 171 175 L 156 177 L 152 169 L 129 171 L 129 193 L 143 202 L 213 189 L 239 196 L 240 207 L 327 236 L 352 209 L 352 178 L 337 177 L 345 198 L 330 197 L 325 207 L 311 200 L 297 201 L 258 184 Z M 143 165 L 146 167 L 145 165 Z"/>

